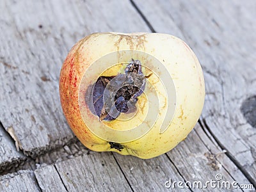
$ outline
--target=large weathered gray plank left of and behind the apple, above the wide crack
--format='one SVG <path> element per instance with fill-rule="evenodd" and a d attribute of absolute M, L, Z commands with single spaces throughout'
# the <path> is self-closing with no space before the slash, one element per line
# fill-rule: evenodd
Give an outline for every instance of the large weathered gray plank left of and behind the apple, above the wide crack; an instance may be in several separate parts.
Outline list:
<path fill-rule="evenodd" d="M 35 157 L 74 139 L 58 93 L 68 49 L 93 32 L 148 28 L 129 1 L 1 1 L 0 8 L 0 120 Z"/>

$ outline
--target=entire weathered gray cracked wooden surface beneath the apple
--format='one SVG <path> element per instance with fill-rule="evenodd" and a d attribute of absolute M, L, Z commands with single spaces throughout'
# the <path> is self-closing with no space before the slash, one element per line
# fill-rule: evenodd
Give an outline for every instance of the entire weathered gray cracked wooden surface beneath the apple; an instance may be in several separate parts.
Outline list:
<path fill-rule="evenodd" d="M 238 0 L 0 1 L 0 191 L 170 191 L 170 178 L 216 174 L 255 188 L 255 10 Z M 70 131 L 60 68 L 72 45 L 99 31 L 169 33 L 195 51 L 205 106 L 172 151 L 147 160 L 92 152 Z"/>

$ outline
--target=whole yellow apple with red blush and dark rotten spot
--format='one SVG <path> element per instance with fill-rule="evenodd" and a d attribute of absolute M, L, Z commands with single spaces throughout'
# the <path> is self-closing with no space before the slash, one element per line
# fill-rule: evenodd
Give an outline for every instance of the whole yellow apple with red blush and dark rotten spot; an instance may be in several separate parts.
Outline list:
<path fill-rule="evenodd" d="M 93 33 L 68 52 L 60 100 L 68 125 L 91 150 L 149 159 L 195 126 L 205 84 L 194 52 L 161 33 Z"/>

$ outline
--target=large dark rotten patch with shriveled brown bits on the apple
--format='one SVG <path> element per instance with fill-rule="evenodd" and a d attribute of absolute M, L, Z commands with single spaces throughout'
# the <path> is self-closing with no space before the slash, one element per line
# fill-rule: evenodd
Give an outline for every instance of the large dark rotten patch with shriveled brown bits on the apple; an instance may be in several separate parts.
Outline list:
<path fill-rule="evenodd" d="M 86 103 L 91 112 L 99 116 L 100 121 L 115 120 L 120 113 L 132 113 L 136 110 L 135 104 L 144 88 L 145 76 L 141 63 L 132 60 L 125 68 L 125 74 L 100 76 L 90 88 L 89 100 L 92 100 L 92 105 L 87 99 Z M 107 99 L 104 100 L 104 97 Z"/>

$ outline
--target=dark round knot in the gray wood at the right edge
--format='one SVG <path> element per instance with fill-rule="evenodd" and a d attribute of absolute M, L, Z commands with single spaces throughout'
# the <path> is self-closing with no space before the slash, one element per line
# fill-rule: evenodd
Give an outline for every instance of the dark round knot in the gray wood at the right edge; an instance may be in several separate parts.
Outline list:
<path fill-rule="evenodd" d="M 244 100 L 240 109 L 248 124 L 256 128 L 256 95 Z"/>

